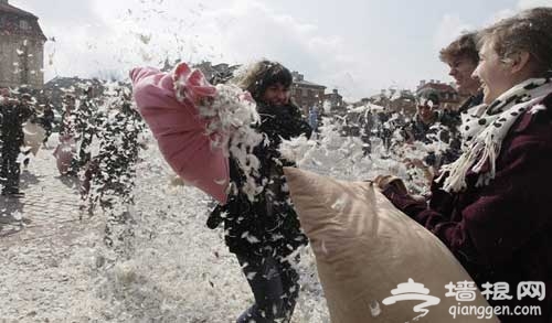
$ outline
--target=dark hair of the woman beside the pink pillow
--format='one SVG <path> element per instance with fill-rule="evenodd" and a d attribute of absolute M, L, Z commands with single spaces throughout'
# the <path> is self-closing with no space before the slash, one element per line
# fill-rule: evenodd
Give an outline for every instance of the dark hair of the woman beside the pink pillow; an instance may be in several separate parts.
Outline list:
<path fill-rule="evenodd" d="M 284 65 L 264 60 L 255 63 L 245 73 L 238 85 L 248 90 L 255 100 L 259 100 L 268 87 L 282 84 L 288 88 L 291 86 L 293 80 L 291 73 Z"/>

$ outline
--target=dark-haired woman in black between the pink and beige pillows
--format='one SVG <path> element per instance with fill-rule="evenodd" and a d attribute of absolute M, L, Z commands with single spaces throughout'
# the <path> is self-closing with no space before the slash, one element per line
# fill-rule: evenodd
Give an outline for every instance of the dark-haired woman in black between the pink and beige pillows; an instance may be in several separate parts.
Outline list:
<path fill-rule="evenodd" d="M 250 201 L 241 191 L 245 176 L 230 157 L 230 176 L 237 190 L 229 202 L 211 214 L 208 226 L 224 223 L 225 243 L 235 254 L 255 297 L 255 303 L 238 319 L 245 322 L 289 322 L 299 292 L 299 276 L 294 268 L 297 249 L 308 244 L 290 204 L 283 166 L 294 163 L 278 152 L 282 139 L 312 130 L 299 108 L 290 101 L 291 73 L 279 63 L 262 61 L 240 82 L 257 104 L 257 129 L 267 140 L 254 149 L 259 160 L 257 185 L 262 192 Z M 221 216 L 222 215 L 222 216 Z"/>

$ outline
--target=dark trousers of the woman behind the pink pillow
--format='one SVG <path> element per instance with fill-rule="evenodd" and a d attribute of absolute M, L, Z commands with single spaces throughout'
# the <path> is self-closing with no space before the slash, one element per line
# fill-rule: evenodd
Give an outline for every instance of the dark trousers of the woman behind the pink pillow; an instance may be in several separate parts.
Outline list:
<path fill-rule="evenodd" d="M 236 257 L 255 297 L 255 303 L 236 322 L 289 322 L 299 294 L 299 274 L 291 263 L 272 256 Z"/>

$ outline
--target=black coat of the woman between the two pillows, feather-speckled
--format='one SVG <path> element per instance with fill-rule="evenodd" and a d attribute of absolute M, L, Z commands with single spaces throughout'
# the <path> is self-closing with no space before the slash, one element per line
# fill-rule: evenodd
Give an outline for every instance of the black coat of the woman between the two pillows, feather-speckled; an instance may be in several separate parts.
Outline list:
<path fill-rule="evenodd" d="M 287 140 L 300 134 L 310 137 L 312 130 L 296 106 L 257 105 L 257 109 L 261 115 L 258 131 L 269 140 L 267 146 L 261 143 L 253 152 L 261 162 L 256 181 L 257 185 L 264 185 L 263 192 L 251 202 L 238 190 L 225 205 L 219 205 L 213 211 L 208 225 L 215 227 L 215 218 L 222 214 L 225 241 L 231 252 L 286 257 L 299 246 L 307 245 L 308 240 L 300 229 L 284 177 L 283 168 L 295 164 L 283 159 L 277 149 L 282 143 L 280 138 Z M 243 186 L 245 177 L 232 155 L 230 177 L 236 187 Z"/>

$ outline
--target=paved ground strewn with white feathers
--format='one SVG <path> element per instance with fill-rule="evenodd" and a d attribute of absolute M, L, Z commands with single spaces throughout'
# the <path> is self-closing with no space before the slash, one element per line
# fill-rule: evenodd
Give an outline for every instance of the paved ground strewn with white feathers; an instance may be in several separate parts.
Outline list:
<path fill-rule="evenodd" d="M 79 220 L 75 180 L 61 177 L 42 150 L 22 173 L 20 200 L 0 197 L 0 323 L 234 322 L 252 293 L 223 228 L 205 228 L 210 200 L 173 186 L 155 146 L 141 153 L 127 258 L 106 248 L 105 215 Z M 295 323 L 326 323 L 315 259 Z"/>

